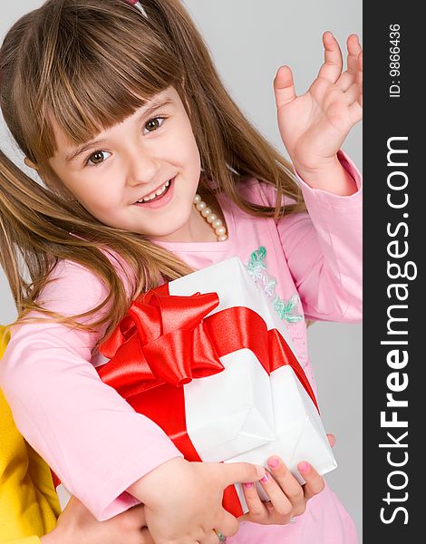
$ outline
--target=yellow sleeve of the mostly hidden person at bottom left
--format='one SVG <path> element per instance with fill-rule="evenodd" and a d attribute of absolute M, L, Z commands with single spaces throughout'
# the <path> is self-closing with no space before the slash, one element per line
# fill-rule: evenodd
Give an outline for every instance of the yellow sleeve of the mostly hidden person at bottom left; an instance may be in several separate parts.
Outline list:
<path fill-rule="evenodd" d="M 0 326 L 0 357 L 9 339 L 3 333 Z M 60 512 L 51 472 L 16 429 L 0 391 L 0 542 L 40 544 L 36 535 L 50 532 Z"/>

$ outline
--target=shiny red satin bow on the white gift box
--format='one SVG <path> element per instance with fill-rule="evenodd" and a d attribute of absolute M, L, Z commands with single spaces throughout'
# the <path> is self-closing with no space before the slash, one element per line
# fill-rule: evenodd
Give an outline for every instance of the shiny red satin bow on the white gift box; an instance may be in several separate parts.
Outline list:
<path fill-rule="evenodd" d="M 161 286 L 132 302 L 101 345 L 111 361 L 99 374 L 125 398 L 161 384 L 179 387 L 224 369 L 203 322 L 218 306 L 218 295 L 166 292 Z"/>

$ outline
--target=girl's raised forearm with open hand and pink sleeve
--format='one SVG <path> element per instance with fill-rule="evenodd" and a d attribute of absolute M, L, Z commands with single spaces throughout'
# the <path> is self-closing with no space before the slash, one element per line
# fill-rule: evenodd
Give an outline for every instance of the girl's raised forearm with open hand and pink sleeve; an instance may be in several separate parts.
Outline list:
<path fill-rule="evenodd" d="M 278 225 L 288 266 L 308 318 L 361 317 L 361 181 L 339 151 L 363 116 L 363 53 L 347 39 L 347 69 L 333 34 L 323 34 L 324 63 L 305 94 L 282 66 L 274 81 L 278 128 L 294 164 L 309 215 Z"/>

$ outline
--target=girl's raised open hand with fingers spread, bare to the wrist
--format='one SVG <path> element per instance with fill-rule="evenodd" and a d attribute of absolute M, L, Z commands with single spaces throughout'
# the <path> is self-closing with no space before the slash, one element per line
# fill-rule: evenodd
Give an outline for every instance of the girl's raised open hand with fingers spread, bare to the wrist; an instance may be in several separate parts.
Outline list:
<path fill-rule="evenodd" d="M 347 39 L 347 69 L 331 32 L 323 34 L 324 63 L 305 94 L 296 96 L 293 74 L 281 66 L 274 80 L 278 127 L 295 170 L 325 172 L 335 166 L 347 133 L 363 117 L 363 53 L 356 34 Z"/>

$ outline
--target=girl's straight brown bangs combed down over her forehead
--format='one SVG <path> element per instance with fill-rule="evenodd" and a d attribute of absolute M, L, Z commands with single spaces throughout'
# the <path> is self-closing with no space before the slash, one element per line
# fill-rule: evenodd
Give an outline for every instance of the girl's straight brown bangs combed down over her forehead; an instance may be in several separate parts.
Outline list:
<path fill-rule="evenodd" d="M 150 21 L 123 0 L 117 16 L 116 10 L 107 9 L 111 3 L 119 4 L 107 0 L 84 9 L 68 4 L 61 12 L 66 24 L 60 21 L 46 42 L 52 51 L 51 62 L 38 74 L 40 105 L 34 127 L 38 133 L 33 141 L 44 148 L 35 152 L 38 158 L 51 157 L 55 151 L 51 116 L 66 138 L 78 145 L 183 79 L 173 47 Z"/>

